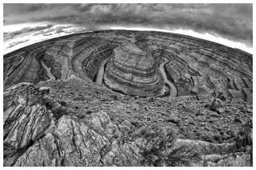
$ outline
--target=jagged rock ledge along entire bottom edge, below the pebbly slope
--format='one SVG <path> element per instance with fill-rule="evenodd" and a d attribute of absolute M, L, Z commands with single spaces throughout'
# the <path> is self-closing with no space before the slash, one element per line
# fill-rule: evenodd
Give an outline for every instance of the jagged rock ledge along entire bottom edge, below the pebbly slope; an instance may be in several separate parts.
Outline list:
<path fill-rule="evenodd" d="M 252 166 L 252 120 L 233 142 L 210 143 L 114 122 L 111 110 L 60 115 L 50 94 L 31 83 L 4 90 L 4 166 Z"/>

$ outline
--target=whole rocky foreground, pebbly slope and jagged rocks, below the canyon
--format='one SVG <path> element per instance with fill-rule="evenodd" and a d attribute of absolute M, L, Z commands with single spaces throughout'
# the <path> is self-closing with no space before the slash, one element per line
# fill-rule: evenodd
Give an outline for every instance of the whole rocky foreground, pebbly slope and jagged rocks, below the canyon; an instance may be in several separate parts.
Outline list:
<path fill-rule="evenodd" d="M 19 83 L 4 90 L 4 166 L 252 166 L 252 105 L 217 101 Z"/>

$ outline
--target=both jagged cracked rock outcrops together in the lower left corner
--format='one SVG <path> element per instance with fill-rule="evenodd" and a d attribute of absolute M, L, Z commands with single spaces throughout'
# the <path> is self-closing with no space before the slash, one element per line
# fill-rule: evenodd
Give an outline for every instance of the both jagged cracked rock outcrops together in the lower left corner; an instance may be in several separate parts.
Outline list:
<path fill-rule="evenodd" d="M 58 103 L 47 106 L 48 94 L 47 88 L 39 89 L 31 83 L 19 83 L 4 92 L 4 166 L 135 166 L 139 163 L 138 146 L 118 145 L 120 129 L 106 113 L 94 113 L 85 122 L 75 120 L 71 114 L 64 115 L 57 123 L 58 114 L 52 114 L 51 110 Z"/>

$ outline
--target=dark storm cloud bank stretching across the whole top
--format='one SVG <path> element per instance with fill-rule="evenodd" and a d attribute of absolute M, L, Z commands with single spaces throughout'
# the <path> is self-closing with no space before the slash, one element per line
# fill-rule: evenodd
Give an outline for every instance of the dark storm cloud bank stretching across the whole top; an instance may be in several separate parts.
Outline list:
<path fill-rule="evenodd" d="M 252 4 L 4 4 L 4 20 L 191 29 L 252 46 Z"/>

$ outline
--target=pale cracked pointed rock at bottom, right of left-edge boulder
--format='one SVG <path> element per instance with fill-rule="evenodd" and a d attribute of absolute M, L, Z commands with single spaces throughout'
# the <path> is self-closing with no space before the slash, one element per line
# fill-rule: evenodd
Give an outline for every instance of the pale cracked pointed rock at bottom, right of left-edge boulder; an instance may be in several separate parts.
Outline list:
<path fill-rule="evenodd" d="M 55 130 L 31 146 L 15 166 L 138 165 L 138 146 L 118 146 L 116 138 L 120 132 L 106 113 L 93 113 L 87 121 L 91 126 L 61 117 Z"/>

